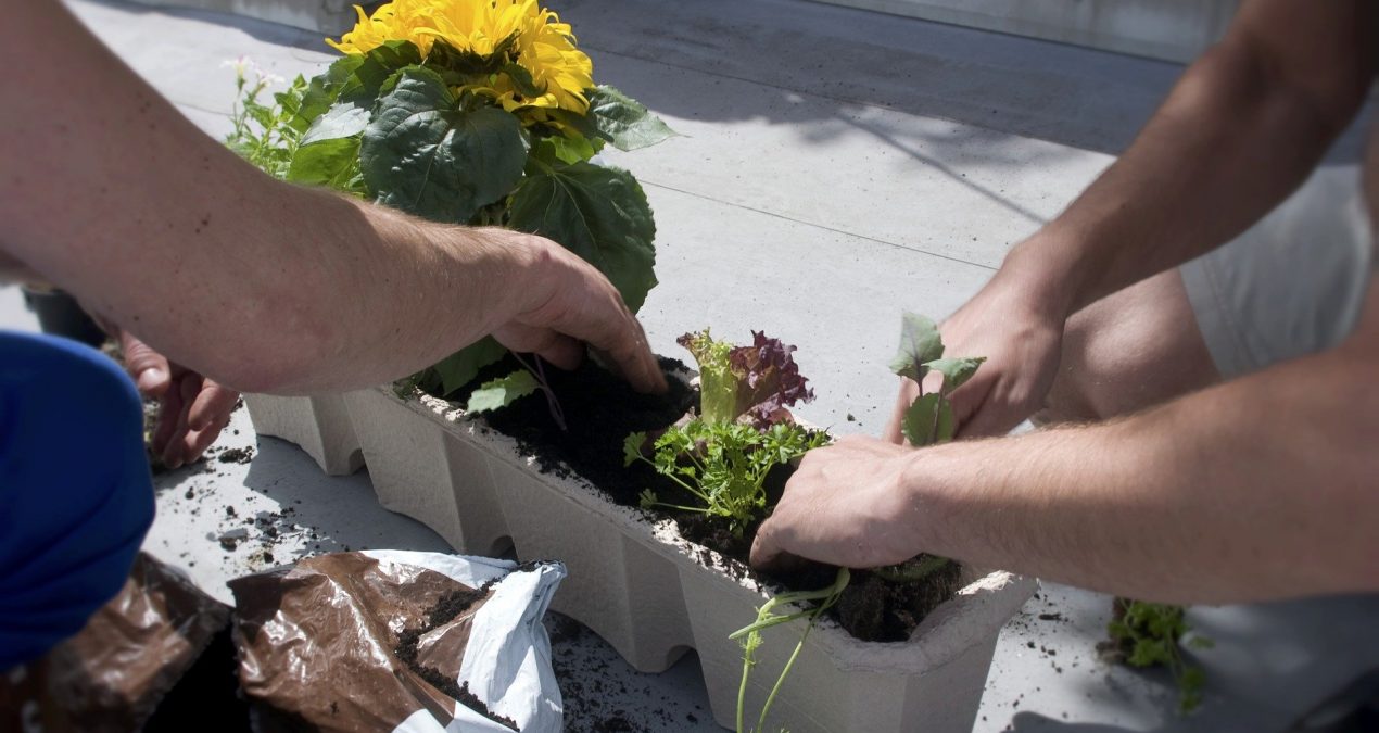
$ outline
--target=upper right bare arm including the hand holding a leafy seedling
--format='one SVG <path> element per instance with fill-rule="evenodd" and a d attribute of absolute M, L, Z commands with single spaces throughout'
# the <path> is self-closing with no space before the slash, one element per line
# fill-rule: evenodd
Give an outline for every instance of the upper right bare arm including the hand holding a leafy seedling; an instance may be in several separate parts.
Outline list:
<path fill-rule="evenodd" d="M 1354 117 L 1376 54 L 1373 3 L 1244 3 L 1129 149 L 943 324 L 953 353 L 990 359 L 954 395 L 963 433 L 1043 407 L 1071 313 L 1223 244 L 1292 192 Z"/>

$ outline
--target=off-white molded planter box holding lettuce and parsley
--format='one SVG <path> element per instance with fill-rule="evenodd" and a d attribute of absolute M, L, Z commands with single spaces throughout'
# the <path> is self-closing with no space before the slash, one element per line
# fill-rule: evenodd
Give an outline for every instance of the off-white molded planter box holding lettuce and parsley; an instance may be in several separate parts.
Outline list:
<path fill-rule="evenodd" d="M 728 634 L 756 618 L 769 589 L 724 574 L 714 567 L 721 559 L 680 538 L 673 522 L 652 523 L 582 479 L 541 473 L 513 439 L 451 403 L 400 399 L 392 388 L 343 402 L 383 507 L 423 522 L 459 552 L 514 547 L 523 559 L 563 560 L 570 576 L 552 607 L 645 672 L 695 649 L 714 719 L 734 725 L 742 650 Z M 860 642 L 821 623 L 771 725 L 794 733 L 971 730 L 997 635 L 1036 584 L 1005 571 L 968 581 L 909 642 Z M 803 628 L 797 621 L 765 632 L 749 712 L 760 710 Z"/>

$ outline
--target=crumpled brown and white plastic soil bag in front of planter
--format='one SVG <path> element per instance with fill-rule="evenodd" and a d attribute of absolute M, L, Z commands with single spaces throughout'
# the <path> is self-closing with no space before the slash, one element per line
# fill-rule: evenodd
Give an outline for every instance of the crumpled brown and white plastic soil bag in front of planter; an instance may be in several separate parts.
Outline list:
<path fill-rule="evenodd" d="M 560 563 L 364 551 L 233 580 L 254 729 L 560 730 L 541 620 L 564 577 Z"/>

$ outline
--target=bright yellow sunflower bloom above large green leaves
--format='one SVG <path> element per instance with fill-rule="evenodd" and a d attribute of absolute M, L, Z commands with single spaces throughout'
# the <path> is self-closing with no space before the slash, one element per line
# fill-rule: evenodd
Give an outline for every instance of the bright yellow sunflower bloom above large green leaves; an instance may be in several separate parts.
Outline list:
<path fill-rule="evenodd" d="M 527 121 L 543 121 L 542 109 L 568 109 L 583 115 L 589 109 L 585 90 L 592 88 L 593 62 L 575 47 L 568 23 L 538 0 L 393 0 L 372 17 L 354 7 L 359 23 L 339 41 L 325 43 L 345 54 L 367 54 L 390 40 L 411 41 L 422 58 L 437 40 L 458 51 L 490 58 L 513 39 L 510 61 L 531 75 L 545 94 L 525 97 L 506 73 L 494 73 L 459 87 L 492 98 Z"/>

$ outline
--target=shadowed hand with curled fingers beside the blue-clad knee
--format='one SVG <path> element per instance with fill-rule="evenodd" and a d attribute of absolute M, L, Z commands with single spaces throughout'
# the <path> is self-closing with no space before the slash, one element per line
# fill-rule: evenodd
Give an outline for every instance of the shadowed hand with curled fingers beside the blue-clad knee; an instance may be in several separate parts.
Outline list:
<path fill-rule="evenodd" d="M 123 329 L 117 338 L 139 393 L 159 400 L 159 422 L 150 440 L 153 454 L 170 469 L 196 461 L 230 421 L 240 393 L 168 362 Z"/>

